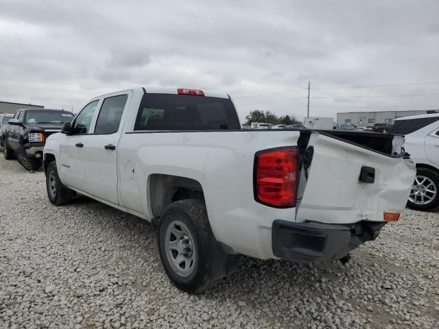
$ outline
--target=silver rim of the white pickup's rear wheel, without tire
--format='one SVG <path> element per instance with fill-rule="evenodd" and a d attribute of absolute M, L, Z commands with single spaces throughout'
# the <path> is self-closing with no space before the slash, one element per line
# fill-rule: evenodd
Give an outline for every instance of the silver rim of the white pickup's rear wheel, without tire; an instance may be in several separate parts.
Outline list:
<path fill-rule="evenodd" d="M 193 236 L 185 223 L 171 221 L 165 232 L 166 256 L 171 267 L 180 276 L 190 276 L 195 270 L 196 250 Z"/>

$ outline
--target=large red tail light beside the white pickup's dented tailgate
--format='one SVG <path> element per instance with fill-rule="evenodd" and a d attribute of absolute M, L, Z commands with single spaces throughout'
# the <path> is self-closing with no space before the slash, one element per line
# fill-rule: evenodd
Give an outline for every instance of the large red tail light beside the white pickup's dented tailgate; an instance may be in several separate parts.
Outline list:
<path fill-rule="evenodd" d="M 256 154 L 254 198 L 261 204 L 278 208 L 296 205 L 297 151 L 272 149 Z"/>

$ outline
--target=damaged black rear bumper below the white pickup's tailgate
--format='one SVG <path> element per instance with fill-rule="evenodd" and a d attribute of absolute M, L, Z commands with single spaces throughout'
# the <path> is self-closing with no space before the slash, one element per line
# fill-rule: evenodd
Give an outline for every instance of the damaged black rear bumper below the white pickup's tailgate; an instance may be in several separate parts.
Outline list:
<path fill-rule="evenodd" d="M 272 227 L 273 254 L 300 263 L 340 259 L 361 243 L 375 240 L 385 224 L 381 221 L 294 223 L 278 219 Z"/>

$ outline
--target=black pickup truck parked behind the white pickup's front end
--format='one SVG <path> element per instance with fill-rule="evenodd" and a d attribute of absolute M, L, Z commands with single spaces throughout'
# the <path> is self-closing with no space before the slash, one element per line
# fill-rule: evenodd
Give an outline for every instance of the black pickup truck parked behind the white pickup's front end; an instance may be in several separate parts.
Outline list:
<path fill-rule="evenodd" d="M 60 132 L 64 122 L 72 121 L 73 118 L 72 112 L 64 110 L 16 110 L 5 131 L 5 159 L 10 160 L 15 154 L 25 169 L 38 170 L 43 164 L 43 149 L 47 137 Z"/>

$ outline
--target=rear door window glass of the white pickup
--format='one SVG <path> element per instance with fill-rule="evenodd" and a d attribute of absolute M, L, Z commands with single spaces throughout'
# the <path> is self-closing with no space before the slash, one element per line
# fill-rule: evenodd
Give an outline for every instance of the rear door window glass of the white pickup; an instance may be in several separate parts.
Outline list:
<path fill-rule="evenodd" d="M 99 117 L 97 117 L 95 134 L 114 134 L 119 130 L 123 108 L 128 95 L 119 95 L 104 99 Z"/>

